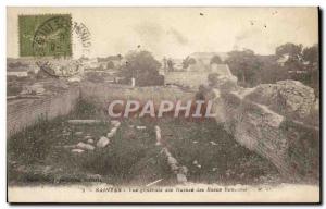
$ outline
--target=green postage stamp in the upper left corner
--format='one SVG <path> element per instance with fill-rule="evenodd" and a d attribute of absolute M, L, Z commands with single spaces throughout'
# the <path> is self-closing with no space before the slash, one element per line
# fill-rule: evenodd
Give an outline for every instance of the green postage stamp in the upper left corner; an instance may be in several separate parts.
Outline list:
<path fill-rule="evenodd" d="M 21 57 L 71 57 L 70 14 L 20 15 Z"/>

